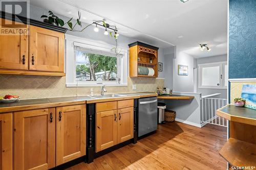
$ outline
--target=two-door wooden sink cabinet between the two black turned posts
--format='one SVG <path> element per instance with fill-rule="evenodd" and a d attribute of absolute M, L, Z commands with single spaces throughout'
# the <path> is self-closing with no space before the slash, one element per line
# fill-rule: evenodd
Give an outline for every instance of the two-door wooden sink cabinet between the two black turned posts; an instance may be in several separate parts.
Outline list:
<path fill-rule="evenodd" d="M 106 104 L 97 103 L 96 111 Z M 118 101 L 117 107 L 112 108 L 119 109 L 96 112 L 96 152 L 134 137 L 133 100 Z"/>

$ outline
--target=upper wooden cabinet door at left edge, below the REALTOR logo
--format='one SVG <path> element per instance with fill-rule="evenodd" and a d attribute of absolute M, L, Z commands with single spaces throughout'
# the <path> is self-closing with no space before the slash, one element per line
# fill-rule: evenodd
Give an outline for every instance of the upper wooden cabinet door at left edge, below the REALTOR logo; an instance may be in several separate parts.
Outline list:
<path fill-rule="evenodd" d="M 1 19 L 1 23 L 6 21 Z M 4 29 L 4 28 L 3 28 Z M 6 27 L 6 29 L 12 29 Z M 16 29 L 16 28 L 13 28 Z M 28 35 L 0 35 L 0 69 L 28 69 Z M 23 61 L 24 59 L 24 61 Z"/>

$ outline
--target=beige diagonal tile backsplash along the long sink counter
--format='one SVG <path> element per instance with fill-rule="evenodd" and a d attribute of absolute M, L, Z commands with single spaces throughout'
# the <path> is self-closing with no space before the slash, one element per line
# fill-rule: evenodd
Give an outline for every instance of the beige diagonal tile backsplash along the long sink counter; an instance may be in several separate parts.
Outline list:
<path fill-rule="evenodd" d="M 137 89 L 132 90 L 136 84 Z M 164 79 L 130 78 L 127 86 L 108 87 L 106 93 L 152 91 L 164 86 Z M 49 98 L 57 96 L 88 95 L 90 89 L 94 94 L 100 93 L 100 87 L 66 87 L 66 77 L 0 75 L 0 96 L 5 94 L 18 95 L 21 99 Z"/>

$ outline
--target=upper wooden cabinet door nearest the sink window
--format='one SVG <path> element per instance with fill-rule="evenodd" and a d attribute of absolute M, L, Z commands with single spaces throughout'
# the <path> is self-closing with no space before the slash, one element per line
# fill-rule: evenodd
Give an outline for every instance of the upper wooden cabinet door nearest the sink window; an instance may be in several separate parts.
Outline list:
<path fill-rule="evenodd" d="M 64 34 L 30 25 L 29 69 L 64 72 Z"/>

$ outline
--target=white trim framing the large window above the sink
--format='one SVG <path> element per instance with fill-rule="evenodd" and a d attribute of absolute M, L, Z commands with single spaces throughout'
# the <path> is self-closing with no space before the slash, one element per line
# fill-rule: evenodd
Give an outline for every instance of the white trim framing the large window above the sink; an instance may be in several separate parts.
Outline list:
<path fill-rule="evenodd" d="M 90 40 L 86 38 L 80 38 L 72 35 L 65 35 L 66 39 L 66 86 L 67 87 L 96 87 L 96 86 L 127 86 L 127 75 L 128 75 L 128 48 L 118 47 L 120 54 L 122 55 L 120 61 L 122 63 L 122 68 L 120 69 L 120 83 L 118 82 L 82 82 L 76 81 L 75 75 L 75 53 L 74 44 L 79 44 L 79 46 L 86 47 L 88 49 L 100 50 L 106 53 L 113 53 L 111 49 L 114 45 L 110 45 L 103 42 L 98 42 L 95 40 Z M 113 38 L 114 39 L 114 38 Z"/>

